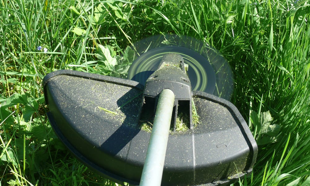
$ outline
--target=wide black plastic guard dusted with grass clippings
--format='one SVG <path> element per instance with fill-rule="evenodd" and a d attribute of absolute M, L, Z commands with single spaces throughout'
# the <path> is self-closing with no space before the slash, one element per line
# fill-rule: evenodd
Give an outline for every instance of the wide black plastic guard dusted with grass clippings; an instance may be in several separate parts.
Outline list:
<path fill-rule="evenodd" d="M 60 70 L 43 80 L 55 133 L 88 167 L 116 182 L 139 184 L 150 133 L 139 129 L 138 82 Z M 194 91 L 200 123 L 168 139 L 162 185 L 230 184 L 252 171 L 257 145 L 237 108 Z"/>

